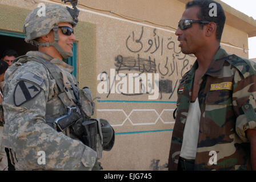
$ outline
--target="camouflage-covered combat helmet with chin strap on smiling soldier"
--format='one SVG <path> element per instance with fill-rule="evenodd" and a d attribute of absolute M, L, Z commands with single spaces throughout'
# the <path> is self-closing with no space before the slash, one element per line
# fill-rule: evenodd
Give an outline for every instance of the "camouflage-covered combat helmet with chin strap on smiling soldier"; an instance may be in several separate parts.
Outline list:
<path fill-rule="evenodd" d="M 45 14 L 38 14 L 41 11 L 40 7 L 37 7 L 29 15 L 27 15 L 25 23 L 23 25 L 23 32 L 25 33 L 25 42 L 34 46 L 48 47 L 54 46 L 63 58 L 73 56 L 73 53 L 63 51 L 58 44 L 58 23 L 71 23 L 72 26 L 76 26 L 78 23 L 79 10 L 77 7 L 77 0 L 62 0 L 65 3 L 69 1 L 74 9 L 69 7 L 63 7 L 59 5 L 45 5 Z M 54 31 L 54 42 L 38 42 L 37 38 L 49 34 Z"/>

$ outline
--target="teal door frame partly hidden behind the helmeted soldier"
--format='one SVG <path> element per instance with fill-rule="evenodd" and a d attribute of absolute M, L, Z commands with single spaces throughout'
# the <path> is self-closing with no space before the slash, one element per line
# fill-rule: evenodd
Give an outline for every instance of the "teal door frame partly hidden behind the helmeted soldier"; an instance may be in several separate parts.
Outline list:
<path fill-rule="evenodd" d="M 9 32 L 9 31 L 3 31 L 0 30 L 0 35 L 4 35 L 4 36 L 13 36 L 15 38 L 22 38 L 25 39 L 25 34 L 23 33 L 19 33 L 19 32 Z M 73 56 L 69 57 L 69 59 L 65 60 L 65 62 L 71 66 L 74 67 L 74 71 L 72 72 L 72 74 L 77 77 L 77 43 L 73 44 Z"/>

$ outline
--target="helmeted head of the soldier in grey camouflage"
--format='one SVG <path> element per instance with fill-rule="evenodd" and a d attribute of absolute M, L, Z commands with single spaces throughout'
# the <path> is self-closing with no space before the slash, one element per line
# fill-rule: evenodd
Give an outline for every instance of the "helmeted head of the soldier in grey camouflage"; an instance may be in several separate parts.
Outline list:
<path fill-rule="evenodd" d="M 39 7 L 31 11 L 23 26 L 25 42 L 57 59 L 73 56 L 73 27 L 78 23 L 79 14 L 75 5 L 73 8 L 45 5 L 45 16 L 38 15 Z"/>

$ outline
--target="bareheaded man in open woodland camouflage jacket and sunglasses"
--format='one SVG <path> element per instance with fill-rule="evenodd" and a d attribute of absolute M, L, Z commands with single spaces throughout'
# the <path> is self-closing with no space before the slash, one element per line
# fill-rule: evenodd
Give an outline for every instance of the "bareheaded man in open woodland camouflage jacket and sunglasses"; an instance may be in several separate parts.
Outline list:
<path fill-rule="evenodd" d="M 219 47 L 224 24 L 208 0 L 188 2 L 179 21 L 179 47 L 197 60 L 178 86 L 169 170 L 256 169 L 256 64 Z"/>

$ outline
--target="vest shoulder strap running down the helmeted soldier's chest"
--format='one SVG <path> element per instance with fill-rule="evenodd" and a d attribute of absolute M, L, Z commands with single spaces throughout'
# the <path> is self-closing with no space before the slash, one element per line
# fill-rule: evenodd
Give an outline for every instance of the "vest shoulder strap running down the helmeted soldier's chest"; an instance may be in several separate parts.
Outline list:
<path fill-rule="evenodd" d="M 61 99 L 62 103 L 66 107 L 75 105 L 75 102 L 73 101 L 73 97 L 70 93 L 70 89 L 73 89 L 73 88 L 69 80 L 67 79 L 66 74 L 63 73 L 63 71 L 59 67 L 57 67 L 57 65 L 55 65 L 54 63 L 51 63 L 50 61 L 44 60 L 41 57 L 35 57 L 35 56 L 29 56 L 29 57 L 33 57 L 34 61 L 37 61 L 38 63 L 45 65 L 45 67 L 48 69 L 51 76 L 53 76 L 54 80 L 56 81 L 56 84 L 58 85 L 59 90 L 61 91 L 58 97 Z M 75 91 L 73 90 L 73 92 Z M 67 102 L 67 100 L 65 99 L 65 95 L 69 98 L 69 102 Z"/>

